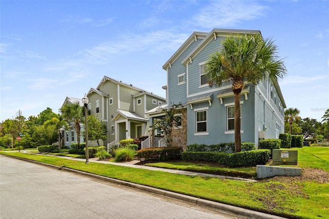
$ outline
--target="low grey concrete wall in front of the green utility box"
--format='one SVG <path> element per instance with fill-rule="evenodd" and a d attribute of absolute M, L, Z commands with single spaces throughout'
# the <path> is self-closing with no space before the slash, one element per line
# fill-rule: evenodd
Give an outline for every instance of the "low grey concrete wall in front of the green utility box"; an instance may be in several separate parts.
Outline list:
<path fill-rule="evenodd" d="M 275 167 L 275 166 L 256 166 L 257 178 L 267 178 L 271 176 L 300 176 L 301 168 Z"/>

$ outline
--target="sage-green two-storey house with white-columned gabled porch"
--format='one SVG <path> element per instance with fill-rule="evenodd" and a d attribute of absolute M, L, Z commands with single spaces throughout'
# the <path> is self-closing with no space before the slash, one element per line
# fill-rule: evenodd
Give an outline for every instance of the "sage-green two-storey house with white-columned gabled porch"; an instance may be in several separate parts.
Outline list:
<path fill-rule="evenodd" d="M 107 127 L 107 140 L 116 144 L 122 139 L 147 136 L 152 108 L 166 104 L 166 99 L 143 89 L 104 76 L 97 88 L 90 88 L 88 114 L 95 115 Z"/>

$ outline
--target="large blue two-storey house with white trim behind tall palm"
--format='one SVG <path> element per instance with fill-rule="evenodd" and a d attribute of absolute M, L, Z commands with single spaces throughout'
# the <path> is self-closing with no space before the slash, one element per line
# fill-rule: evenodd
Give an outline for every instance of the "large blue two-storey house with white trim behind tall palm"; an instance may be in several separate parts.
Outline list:
<path fill-rule="evenodd" d="M 232 82 L 219 88 L 210 87 L 204 66 L 210 54 L 222 47 L 232 34 L 260 34 L 255 30 L 213 29 L 193 32 L 187 41 L 162 66 L 167 71 L 167 103 L 181 103 L 183 118 L 180 129 L 173 131 L 177 145 L 234 142 L 234 95 Z M 246 82 L 247 83 L 247 82 Z M 284 132 L 286 108 L 279 84 L 261 81 L 246 84 L 241 93 L 241 141 L 278 138 Z M 148 112 L 150 122 L 161 117 L 161 109 Z M 183 141 L 181 140 L 183 139 Z"/>

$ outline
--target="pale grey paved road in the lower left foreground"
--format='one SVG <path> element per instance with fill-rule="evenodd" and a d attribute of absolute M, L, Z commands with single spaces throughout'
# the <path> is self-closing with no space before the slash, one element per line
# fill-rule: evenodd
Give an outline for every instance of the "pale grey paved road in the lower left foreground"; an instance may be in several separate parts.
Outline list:
<path fill-rule="evenodd" d="M 0 156 L 0 218 L 244 218 Z"/>

